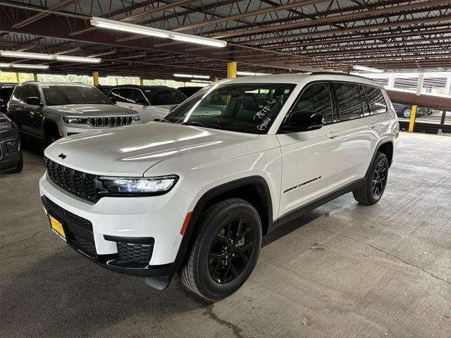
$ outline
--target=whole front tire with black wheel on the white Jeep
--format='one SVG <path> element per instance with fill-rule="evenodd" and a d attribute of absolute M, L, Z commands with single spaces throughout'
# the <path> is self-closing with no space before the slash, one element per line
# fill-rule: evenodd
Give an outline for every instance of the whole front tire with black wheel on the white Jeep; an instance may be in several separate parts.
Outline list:
<path fill-rule="evenodd" d="M 194 244 L 180 271 L 182 283 L 206 299 L 230 296 L 251 275 L 261 248 L 261 220 L 242 199 L 226 199 L 199 218 Z"/>

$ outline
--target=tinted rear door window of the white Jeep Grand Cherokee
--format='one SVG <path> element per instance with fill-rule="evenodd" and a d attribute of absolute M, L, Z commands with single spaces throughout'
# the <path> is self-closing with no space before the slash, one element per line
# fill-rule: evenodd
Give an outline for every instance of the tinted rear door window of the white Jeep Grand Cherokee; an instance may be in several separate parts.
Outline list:
<path fill-rule="evenodd" d="M 340 120 L 351 120 L 364 115 L 362 98 L 357 84 L 335 82 L 332 85 L 335 89 Z"/>

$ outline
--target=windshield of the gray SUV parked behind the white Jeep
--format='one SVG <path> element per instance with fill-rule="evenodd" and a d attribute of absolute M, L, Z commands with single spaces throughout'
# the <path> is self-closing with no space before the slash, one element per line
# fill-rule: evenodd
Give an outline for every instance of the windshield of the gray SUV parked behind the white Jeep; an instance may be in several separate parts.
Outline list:
<path fill-rule="evenodd" d="M 47 106 L 62 104 L 112 104 L 108 97 L 95 87 L 42 86 Z"/>

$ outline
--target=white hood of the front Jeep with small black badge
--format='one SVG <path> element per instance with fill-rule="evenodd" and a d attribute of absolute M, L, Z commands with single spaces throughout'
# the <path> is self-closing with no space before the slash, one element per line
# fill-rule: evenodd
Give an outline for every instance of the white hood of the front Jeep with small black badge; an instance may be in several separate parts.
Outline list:
<path fill-rule="evenodd" d="M 52 161 L 86 173 L 137 177 L 168 158 L 218 149 L 258 136 L 150 122 L 65 137 L 51 144 L 44 154 Z M 62 160 L 60 154 L 66 158 Z"/>

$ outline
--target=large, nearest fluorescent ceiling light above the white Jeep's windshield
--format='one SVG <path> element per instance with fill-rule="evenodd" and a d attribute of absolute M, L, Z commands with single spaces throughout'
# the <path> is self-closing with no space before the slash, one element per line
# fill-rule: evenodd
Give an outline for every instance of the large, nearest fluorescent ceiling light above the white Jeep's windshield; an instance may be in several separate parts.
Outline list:
<path fill-rule="evenodd" d="M 190 42 L 192 44 L 204 44 L 213 47 L 225 47 L 227 42 L 209 37 L 197 37 L 195 35 L 172 32 L 171 30 L 159 30 L 158 28 L 134 25 L 132 23 L 121 23 L 120 21 L 108 20 L 104 18 L 91 18 L 91 25 L 107 28 L 109 30 L 121 30 L 135 34 L 149 35 L 151 37 L 163 37 L 181 42 Z"/>

